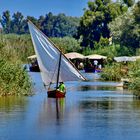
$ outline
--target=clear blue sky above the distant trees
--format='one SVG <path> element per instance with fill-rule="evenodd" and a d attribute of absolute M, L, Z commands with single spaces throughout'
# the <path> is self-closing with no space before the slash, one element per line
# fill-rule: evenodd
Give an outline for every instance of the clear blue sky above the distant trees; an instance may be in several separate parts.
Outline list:
<path fill-rule="evenodd" d="M 65 13 L 66 16 L 80 17 L 87 7 L 88 0 L 0 0 L 0 15 L 6 10 L 13 13 L 21 12 L 24 17 L 45 16 L 52 12 L 54 15 Z"/>

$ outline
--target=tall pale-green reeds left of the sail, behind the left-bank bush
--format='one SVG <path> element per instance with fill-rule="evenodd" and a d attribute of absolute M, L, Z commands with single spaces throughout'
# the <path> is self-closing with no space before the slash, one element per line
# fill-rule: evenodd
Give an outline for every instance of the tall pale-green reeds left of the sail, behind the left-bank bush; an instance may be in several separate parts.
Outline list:
<path fill-rule="evenodd" d="M 3 49 L 5 50 L 5 52 L 7 52 L 7 56 L 5 57 L 9 59 L 13 59 L 13 57 L 16 57 L 15 59 L 26 62 L 27 57 L 34 54 L 34 49 L 29 34 L 0 34 L 0 42 L 1 45 L 4 46 Z"/>

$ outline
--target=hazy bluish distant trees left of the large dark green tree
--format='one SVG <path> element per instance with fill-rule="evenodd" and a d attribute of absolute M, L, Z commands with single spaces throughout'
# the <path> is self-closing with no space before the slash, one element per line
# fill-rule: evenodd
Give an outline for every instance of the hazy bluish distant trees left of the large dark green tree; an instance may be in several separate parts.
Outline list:
<path fill-rule="evenodd" d="M 0 17 L 3 33 L 28 34 L 27 20 L 32 21 L 48 37 L 64 37 L 76 34 L 79 25 L 78 17 L 70 17 L 65 14 L 53 15 L 51 12 L 45 16 L 35 17 L 27 16 L 24 18 L 22 13 L 14 13 L 11 17 L 7 10 Z"/>

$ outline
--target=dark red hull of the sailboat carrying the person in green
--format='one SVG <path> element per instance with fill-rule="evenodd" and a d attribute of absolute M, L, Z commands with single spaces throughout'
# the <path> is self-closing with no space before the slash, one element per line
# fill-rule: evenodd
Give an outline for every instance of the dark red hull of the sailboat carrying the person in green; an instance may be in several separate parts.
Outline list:
<path fill-rule="evenodd" d="M 49 98 L 64 98 L 65 93 L 59 90 L 50 90 L 47 92 Z"/>

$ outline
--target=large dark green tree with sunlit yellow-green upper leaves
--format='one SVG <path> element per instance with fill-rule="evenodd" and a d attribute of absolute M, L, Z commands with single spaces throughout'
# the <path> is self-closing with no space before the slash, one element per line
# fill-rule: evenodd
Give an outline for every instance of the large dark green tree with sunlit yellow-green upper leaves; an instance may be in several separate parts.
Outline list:
<path fill-rule="evenodd" d="M 122 8 L 121 4 L 110 0 L 88 2 L 88 9 L 80 20 L 77 33 L 77 38 L 81 39 L 81 45 L 94 48 L 95 42 L 99 42 L 101 37 L 109 38 L 108 24 L 126 11 L 126 6 Z"/>

